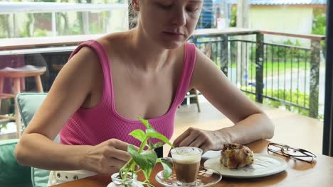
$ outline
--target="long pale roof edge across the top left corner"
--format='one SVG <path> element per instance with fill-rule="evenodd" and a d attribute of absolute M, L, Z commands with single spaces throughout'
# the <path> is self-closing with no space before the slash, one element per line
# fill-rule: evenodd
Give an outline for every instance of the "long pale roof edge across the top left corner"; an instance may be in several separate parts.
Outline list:
<path fill-rule="evenodd" d="M 46 2 L 0 2 L 0 14 L 13 12 L 46 13 L 63 11 L 110 11 L 122 8 L 127 10 L 127 4 L 73 4 Z"/>

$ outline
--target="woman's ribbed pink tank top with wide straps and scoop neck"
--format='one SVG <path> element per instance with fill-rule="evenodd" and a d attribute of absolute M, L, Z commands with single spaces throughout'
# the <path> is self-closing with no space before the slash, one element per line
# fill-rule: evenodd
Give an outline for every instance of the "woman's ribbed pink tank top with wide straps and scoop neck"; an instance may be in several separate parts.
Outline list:
<path fill-rule="evenodd" d="M 110 67 L 107 53 L 96 40 L 83 42 L 70 55 L 73 57 L 82 47 L 90 47 L 95 50 L 100 58 L 104 75 L 104 87 L 100 103 L 93 108 L 79 108 L 60 131 L 60 143 L 65 145 L 97 145 L 112 138 L 122 140 L 135 146 L 139 146 L 139 140 L 129 135 L 135 129 L 144 130 L 145 127 L 139 120 L 127 120 L 115 110 L 115 100 L 112 86 L 112 67 Z M 174 101 L 169 111 L 157 118 L 148 119 L 149 123 L 162 135 L 171 138 L 174 132 L 174 117 L 177 107 L 184 100 L 196 61 L 196 47 L 186 42 L 184 64 L 181 79 L 176 90 Z M 152 140 L 152 143 L 159 140 Z"/>

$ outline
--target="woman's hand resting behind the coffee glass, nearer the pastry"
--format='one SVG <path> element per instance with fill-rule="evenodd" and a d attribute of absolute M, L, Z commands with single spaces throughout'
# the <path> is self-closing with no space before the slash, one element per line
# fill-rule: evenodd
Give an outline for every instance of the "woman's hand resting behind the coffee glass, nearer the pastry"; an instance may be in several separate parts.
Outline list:
<path fill-rule="evenodd" d="M 174 140 L 174 147 L 199 147 L 206 152 L 208 150 L 221 150 L 223 144 L 228 143 L 226 133 L 223 130 L 201 130 L 189 128 Z"/>

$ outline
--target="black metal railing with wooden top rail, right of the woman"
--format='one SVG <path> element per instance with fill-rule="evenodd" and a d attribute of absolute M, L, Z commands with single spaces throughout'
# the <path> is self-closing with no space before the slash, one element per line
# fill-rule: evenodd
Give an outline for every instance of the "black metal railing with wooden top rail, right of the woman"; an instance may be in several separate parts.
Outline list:
<path fill-rule="evenodd" d="M 285 33 L 240 33 L 195 35 L 191 41 L 243 92 L 258 103 L 293 108 L 318 118 L 319 52 L 323 36 Z M 310 47 L 264 42 L 264 34 L 307 38 Z M 249 40 L 248 38 L 252 39 Z"/>

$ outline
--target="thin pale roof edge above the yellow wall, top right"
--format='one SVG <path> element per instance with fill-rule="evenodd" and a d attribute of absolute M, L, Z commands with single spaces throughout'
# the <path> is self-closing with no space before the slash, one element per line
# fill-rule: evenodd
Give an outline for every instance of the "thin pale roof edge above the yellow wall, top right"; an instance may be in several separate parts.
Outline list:
<path fill-rule="evenodd" d="M 223 0 L 216 0 L 216 4 Z M 227 0 L 228 4 L 237 4 L 237 0 Z M 327 0 L 248 0 L 251 5 L 310 5 L 327 4 Z"/>

